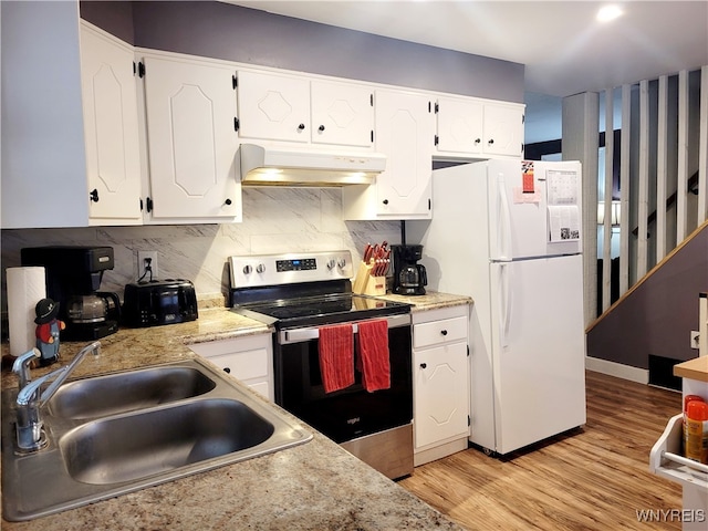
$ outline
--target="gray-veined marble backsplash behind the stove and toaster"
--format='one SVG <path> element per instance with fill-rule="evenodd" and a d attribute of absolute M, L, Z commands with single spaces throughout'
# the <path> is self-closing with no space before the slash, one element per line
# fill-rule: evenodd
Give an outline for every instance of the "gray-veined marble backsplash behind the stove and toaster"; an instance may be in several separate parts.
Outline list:
<path fill-rule="evenodd" d="M 35 246 L 110 246 L 115 268 L 101 289 L 118 292 L 137 279 L 137 251 L 156 250 L 160 279 L 188 279 L 199 298 L 226 294 L 231 254 L 348 249 L 354 260 L 368 241 L 400 242 L 399 221 L 343 221 L 339 188 L 244 188 L 243 222 L 8 229 L 1 232 L 2 311 L 6 268 L 20 266 L 20 250 Z"/>

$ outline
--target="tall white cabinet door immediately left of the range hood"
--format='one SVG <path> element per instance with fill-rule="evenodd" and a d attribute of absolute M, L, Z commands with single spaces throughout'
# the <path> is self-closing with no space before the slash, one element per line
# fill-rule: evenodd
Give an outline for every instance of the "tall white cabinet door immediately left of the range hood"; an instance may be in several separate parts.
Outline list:
<path fill-rule="evenodd" d="M 240 216 L 235 71 L 209 62 L 144 61 L 153 218 Z"/>

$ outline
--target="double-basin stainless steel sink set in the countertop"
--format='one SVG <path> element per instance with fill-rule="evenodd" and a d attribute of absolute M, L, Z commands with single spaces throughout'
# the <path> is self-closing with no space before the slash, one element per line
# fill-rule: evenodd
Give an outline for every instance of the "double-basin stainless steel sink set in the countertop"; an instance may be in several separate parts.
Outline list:
<path fill-rule="evenodd" d="M 6 520 L 52 514 L 306 442 L 312 434 L 199 360 L 76 379 L 42 410 L 49 445 L 18 451 L 2 392 Z"/>

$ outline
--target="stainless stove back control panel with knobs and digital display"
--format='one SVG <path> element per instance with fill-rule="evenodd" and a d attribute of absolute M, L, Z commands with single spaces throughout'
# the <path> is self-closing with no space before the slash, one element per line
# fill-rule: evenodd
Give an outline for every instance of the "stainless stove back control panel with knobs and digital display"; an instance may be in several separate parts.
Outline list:
<path fill-rule="evenodd" d="M 350 251 L 229 257 L 231 288 L 257 288 L 296 282 L 352 279 Z"/>

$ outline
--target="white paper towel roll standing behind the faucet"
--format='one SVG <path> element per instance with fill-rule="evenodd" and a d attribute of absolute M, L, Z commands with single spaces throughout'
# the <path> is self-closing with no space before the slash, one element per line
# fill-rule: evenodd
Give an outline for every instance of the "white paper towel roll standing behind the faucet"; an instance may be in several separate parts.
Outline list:
<path fill-rule="evenodd" d="M 34 306 L 46 296 L 44 268 L 8 268 L 10 354 L 19 356 L 35 344 Z"/>

